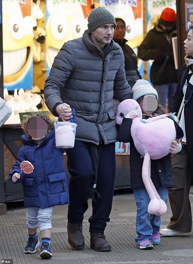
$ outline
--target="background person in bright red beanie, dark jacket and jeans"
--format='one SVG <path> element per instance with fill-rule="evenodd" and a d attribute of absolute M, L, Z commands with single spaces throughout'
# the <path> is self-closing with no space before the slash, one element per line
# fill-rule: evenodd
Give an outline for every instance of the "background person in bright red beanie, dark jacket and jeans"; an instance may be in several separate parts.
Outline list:
<path fill-rule="evenodd" d="M 174 55 L 171 38 L 177 36 L 176 13 L 165 8 L 160 19 L 154 21 L 154 28 L 148 32 L 138 49 L 138 57 L 142 60 L 154 60 L 150 80 L 157 90 L 160 103 L 168 110 L 175 94 L 178 74 L 174 66 Z"/>

